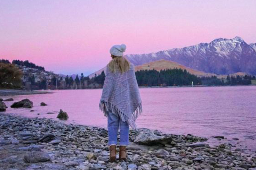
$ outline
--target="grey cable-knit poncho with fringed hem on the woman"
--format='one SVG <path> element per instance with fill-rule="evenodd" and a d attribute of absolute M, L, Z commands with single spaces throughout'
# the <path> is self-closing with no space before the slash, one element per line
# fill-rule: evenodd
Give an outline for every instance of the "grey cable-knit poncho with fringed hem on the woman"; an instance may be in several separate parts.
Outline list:
<path fill-rule="evenodd" d="M 132 63 L 123 74 L 119 70 L 112 73 L 107 66 L 99 109 L 105 117 L 111 111 L 137 130 L 135 120 L 142 112 L 142 101 Z"/>

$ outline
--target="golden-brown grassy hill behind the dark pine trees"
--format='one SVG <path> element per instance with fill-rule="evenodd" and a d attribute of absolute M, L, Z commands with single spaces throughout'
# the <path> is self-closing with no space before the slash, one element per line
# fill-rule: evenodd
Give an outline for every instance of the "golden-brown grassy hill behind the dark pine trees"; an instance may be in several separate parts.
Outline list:
<path fill-rule="evenodd" d="M 205 73 L 203 71 L 198 71 L 198 70 L 194 70 L 192 68 L 180 65 L 177 62 L 173 62 L 173 61 L 168 61 L 168 60 L 157 60 L 154 62 L 149 62 L 149 63 L 145 63 L 143 65 L 139 65 L 139 66 L 135 66 L 135 71 L 138 70 L 164 70 L 164 69 L 175 69 L 175 68 L 181 68 L 183 70 L 187 70 L 190 74 L 196 75 L 198 77 L 209 77 L 209 76 L 217 76 L 216 74 L 212 74 L 212 73 Z"/>

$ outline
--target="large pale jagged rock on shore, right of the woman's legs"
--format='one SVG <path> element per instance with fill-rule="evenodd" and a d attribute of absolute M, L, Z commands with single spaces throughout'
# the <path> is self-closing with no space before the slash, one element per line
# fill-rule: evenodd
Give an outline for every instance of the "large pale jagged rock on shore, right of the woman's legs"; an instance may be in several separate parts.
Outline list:
<path fill-rule="evenodd" d="M 170 144 L 171 141 L 173 141 L 173 139 L 170 136 L 158 136 L 158 135 L 155 135 L 153 131 L 141 133 L 134 140 L 134 142 L 139 145 L 148 145 L 148 146 L 154 146 L 154 145 L 165 146 L 167 144 Z"/>

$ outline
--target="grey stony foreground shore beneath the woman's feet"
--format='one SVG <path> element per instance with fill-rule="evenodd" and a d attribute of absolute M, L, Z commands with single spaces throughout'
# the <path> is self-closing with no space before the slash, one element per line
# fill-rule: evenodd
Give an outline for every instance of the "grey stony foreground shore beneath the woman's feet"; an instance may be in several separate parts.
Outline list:
<path fill-rule="evenodd" d="M 0 113 L 1 170 L 256 170 L 256 155 L 193 135 L 130 130 L 125 161 L 109 162 L 103 128 Z"/>

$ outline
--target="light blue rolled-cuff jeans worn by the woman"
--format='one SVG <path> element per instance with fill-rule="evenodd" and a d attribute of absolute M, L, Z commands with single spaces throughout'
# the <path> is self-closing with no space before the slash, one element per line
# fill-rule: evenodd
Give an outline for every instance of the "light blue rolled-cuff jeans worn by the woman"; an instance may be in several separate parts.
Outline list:
<path fill-rule="evenodd" d="M 119 128 L 120 127 L 120 128 Z M 120 129 L 120 146 L 127 146 L 129 144 L 129 124 L 121 120 L 120 117 L 115 116 L 114 113 L 107 114 L 107 130 L 109 133 L 109 145 L 117 145 L 117 134 Z"/>

